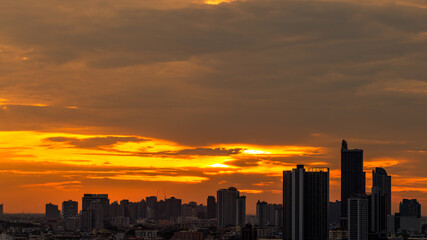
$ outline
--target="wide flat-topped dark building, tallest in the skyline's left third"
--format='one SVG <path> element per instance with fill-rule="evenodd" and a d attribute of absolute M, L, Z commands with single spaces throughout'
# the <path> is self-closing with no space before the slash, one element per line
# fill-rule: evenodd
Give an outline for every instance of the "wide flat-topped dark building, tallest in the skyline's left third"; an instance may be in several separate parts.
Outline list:
<path fill-rule="evenodd" d="M 110 199 L 108 194 L 84 194 L 82 198 L 82 229 L 102 229 L 109 221 Z"/>

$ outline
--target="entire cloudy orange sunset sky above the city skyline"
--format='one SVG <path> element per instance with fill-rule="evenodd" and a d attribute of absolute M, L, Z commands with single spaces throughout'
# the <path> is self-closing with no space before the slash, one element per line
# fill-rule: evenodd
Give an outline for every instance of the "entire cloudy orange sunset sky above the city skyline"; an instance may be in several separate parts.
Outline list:
<path fill-rule="evenodd" d="M 340 145 L 427 215 L 424 0 L 0 0 L 5 212 L 108 193 L 282 201 Z M 79 206 L 81 207 L 81 206 Z"/>

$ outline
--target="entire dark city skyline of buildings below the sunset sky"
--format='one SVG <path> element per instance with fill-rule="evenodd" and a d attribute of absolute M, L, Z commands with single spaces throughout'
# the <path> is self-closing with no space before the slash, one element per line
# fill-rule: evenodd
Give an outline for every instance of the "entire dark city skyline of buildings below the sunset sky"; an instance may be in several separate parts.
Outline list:
<path fill-rule="evenodd" d="M 391 176 L 376 167 L 366 190 L 363 150 L 341 147 L 341 201 L 329 201 L 329 168 L 305 167 L 283 172 L 283 204 L 256 203 L 246 214 L 246 196 L 219 189 L 207 204 L 182 203 L 149 196 L 139 202 L 111 202 L 108 194 L 84 194 L 59 206 L 48 203 L 45 215 L 3 214 L 0 240 L 7 239 L 283 239 L 370 240 L 427 237 L 427 218 L 416 199 L 403 199 L 391 212 Z"/>

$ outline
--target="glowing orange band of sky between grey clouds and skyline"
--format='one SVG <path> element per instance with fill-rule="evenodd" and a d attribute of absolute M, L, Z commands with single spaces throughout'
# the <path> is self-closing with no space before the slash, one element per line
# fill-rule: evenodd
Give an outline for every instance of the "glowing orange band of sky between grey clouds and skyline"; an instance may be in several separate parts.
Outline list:
<path fill-rule="evenodd" d="M 258 199 L 281 202 L 283 170 L 297 163 L 330 166 L 330 151 L 339 151 L 250 144 L 195 147 L 143 136 L 59 132 L 2 131 L 0 136 L 0 193 L 7 212 L 42 212 L 45 202 L 80 201 L 83 193 L 93 192 L 109 193 L 112 201 L 166 194 L 205 203 L 208 195 L 228 186 L 249 196 L 248 211 L 253 212 Z M 405 160 L 368 158 L 365 168 L 401 164 Z M 425 177 L 389 174 L 395 209 L 401 193 L 427 193 Z M 331 200 L 339 199 L 339 169 L 331 169 L 330 177 Z M 369 187 L 369 172 L 367 177 Z"/>

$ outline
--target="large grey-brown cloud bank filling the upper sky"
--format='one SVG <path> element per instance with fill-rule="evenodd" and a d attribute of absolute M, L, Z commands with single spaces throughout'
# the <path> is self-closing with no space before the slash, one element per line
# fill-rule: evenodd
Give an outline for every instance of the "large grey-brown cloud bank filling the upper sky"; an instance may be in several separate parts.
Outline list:
<path fill-rule="evenodd" d="M 425 175 L 423 1 L 125 2 L 0 1 L 0 94 L 49 105 L 5 106 L 2 130 L 96 127 L 194 148 L 324 146 L 318 157 L 333 169 L 348 138 L 367 162 L 397 159 L 391 174 Z M 310 159 L 263 161 L 319 162 Z M 239 177 L 224 181 L 244 185 Z M 253 183 L 277 181 L 261 178 Z"/>

